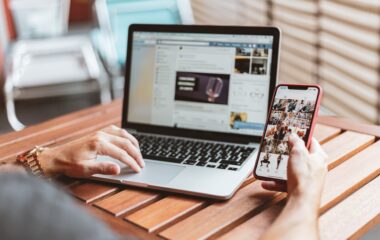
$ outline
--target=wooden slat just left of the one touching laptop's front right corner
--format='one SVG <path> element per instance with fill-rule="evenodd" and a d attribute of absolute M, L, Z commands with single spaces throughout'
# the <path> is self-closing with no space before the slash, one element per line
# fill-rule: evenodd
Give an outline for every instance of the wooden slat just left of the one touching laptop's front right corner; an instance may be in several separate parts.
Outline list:
<path fill-rule="evenodd" d="M 153 232 L 200 209 L 205 203 L 205 201 L 189 197 L 169 196 L 127 216 L 125 219 L 148 232 Z"/>

